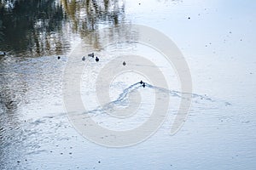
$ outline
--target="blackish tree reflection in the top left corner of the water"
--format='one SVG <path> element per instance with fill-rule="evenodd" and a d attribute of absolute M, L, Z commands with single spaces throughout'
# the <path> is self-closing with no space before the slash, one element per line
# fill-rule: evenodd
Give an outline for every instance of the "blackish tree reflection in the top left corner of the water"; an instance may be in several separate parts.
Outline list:
<path fill-rule="evenodd" d="M 40 55 L 49 50 L 42 44 L 47 39 L 45 34 L 59 30 L 62 20 L 62 8 L 55 0 L 2 0 L 0 48 L 15 54 Z"/>

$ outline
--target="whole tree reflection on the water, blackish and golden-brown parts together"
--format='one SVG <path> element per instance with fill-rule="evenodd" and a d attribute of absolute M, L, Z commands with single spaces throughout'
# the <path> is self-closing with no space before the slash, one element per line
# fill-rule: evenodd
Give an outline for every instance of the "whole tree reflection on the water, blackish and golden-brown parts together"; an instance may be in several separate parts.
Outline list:
<path fill-rule="evenodd" d="M 73 35 L 83 39 L 101 24 L 117 26 L 124 18 L 125 4 L 117 0 L 2 0 L 0 50 L 27 57 L 65 54 Z M 99 46 L 97 37 L 86 42 Z"/>

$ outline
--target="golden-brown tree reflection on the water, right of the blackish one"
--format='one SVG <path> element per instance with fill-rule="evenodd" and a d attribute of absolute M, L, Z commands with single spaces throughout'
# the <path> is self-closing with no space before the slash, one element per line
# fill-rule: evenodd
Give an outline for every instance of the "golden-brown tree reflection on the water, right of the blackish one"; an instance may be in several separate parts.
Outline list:
<path fill-rule="evenodd" d="M 118 0 L 61 0 L 63 8 L 71 19 L 71 27 L 80 37 L 95 48 L 100 47 L 99 37 L 94 34 L 100 25 L 117 26 L 125 18 L 125 3 Z"/>

